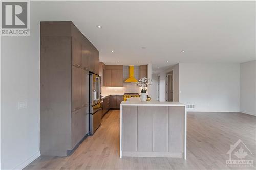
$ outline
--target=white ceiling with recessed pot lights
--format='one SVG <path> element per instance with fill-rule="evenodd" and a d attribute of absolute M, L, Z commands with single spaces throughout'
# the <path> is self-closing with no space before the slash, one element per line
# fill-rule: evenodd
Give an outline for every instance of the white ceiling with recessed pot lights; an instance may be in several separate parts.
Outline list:
<path fill-rule="evenodd" d="M 105 64 L 152 63 L 157 71 L 179 62 L 256 59 L 255 1 L 37 1 L 31 19 L 73 21 Z"/>

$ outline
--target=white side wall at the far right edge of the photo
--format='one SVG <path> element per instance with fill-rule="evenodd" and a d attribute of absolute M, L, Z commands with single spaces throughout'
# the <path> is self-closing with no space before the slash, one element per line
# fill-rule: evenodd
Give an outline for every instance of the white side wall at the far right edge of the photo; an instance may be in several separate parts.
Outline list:
<path fill-rule="evenodd" d="M 256 115 L 256 60 L 240 64 L 240 111 Z"/>

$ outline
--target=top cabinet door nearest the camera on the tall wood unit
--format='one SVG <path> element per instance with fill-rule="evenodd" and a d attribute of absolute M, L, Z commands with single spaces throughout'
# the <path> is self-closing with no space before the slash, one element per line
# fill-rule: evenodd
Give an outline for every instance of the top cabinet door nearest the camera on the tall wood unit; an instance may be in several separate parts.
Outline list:
<path fill-rule="evenodd" d="M 82 64 L 82 45 L 72 37 L 72 65 L 81 67 Z"/>

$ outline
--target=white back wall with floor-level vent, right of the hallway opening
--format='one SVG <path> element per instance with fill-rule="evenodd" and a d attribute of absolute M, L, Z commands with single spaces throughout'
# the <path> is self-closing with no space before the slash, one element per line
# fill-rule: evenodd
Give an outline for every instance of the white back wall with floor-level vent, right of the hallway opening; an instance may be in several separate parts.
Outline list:
<path fill-rule="evenodd" d="M 188 111 L 239 112 L 240 64 L 180 63 L 180 102 Z"/>

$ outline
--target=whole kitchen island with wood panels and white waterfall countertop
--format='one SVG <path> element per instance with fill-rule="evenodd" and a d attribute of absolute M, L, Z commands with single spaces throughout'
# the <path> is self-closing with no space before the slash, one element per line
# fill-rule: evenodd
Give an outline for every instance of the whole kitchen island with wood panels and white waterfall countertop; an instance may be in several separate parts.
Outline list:
<path fill-rule="evenodd" d="M 186 105 L 125 101 L 120 108 L 120 158 L 186 159 Z"/>

